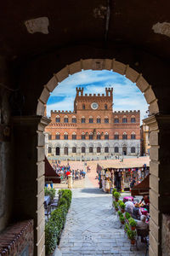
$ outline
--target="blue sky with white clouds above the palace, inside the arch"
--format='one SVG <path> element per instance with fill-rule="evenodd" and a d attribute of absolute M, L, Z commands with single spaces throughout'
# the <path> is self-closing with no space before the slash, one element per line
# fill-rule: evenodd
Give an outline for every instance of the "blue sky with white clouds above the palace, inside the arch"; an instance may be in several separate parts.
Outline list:
<path fill-rule="evenodd" d="M 73 110 L 76 87 L 88 94 L 105 93 L 105 87 L 113 87 L 113 110 L 140 110 L 141 119 L 147 116 L 148 104 L 136 84 L 108 70 L 82 70 L 59 83 L 48 98 L 48 116 L 51 110 Z"/>

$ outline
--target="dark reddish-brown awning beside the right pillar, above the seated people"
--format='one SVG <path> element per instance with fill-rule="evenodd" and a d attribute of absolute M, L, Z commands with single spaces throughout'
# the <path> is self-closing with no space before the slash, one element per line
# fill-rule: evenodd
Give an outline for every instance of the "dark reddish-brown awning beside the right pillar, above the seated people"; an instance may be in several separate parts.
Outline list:
<path fill-rule="evenodd" d="M 131 195 L 149 195 L 150 175 L 144 177 L 144 180 L 131 189 Z"/>

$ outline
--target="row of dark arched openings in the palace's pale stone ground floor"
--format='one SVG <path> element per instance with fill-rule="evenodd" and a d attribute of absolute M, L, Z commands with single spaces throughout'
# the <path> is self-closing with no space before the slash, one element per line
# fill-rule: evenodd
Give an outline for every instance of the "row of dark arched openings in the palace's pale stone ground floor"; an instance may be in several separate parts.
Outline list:
<path fill-rule="evenodd" d="M 69 149 L 68 147 L 64 148 L 64 154 L 68 154 L 68 151 L 69 151 L 68 149 Z M 97 149 L 96 150 L 97 153 L 101 153 L 101 148 L 100 147 L 97 147 L 96 149 Z M 104 149 L 105 149 L 105 153 L 109 153 L 109 147 L 105 147 Z M 86 153 L 86 151 L 87 151 L 87 148 L 85 148 L 85 147 L 81 148 L 82 153 Z M 119 148 L 115 147 L 114 152 L 119 153 Z M 135 154 L 135 152 L 136 152 L 136 148 L 131 147 L 131 153 Z M 48 154 L 51 154 L 51 153 L 52 153 L 52 148 L 48 147 Z M 72 147 L 72 153 L 77 153 L 77 148 L 76 147 Z M 94 153 L 94 148 L 93 147 L 89 147 L 89 153 Z M 59 148 L 56 148 L 56 154 L 59 155 Z"/>

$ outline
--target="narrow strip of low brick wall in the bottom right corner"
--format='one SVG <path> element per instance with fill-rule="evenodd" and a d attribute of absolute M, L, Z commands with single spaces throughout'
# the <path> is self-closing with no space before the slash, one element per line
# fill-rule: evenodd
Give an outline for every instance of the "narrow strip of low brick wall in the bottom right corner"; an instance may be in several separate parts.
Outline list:
<path fill-rule="evenodd" d="M 161 236 L 162 256 L 168 256 L 170 255 L 170 215 L 162 214 Z"/>

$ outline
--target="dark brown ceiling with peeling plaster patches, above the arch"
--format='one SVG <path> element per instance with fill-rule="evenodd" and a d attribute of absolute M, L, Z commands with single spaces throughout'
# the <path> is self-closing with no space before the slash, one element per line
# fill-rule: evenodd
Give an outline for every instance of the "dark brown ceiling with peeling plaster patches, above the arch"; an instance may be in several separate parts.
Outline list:
<path fill-rule="evenodd" d="M 106 7 L 106 0 L 3 1 L 0 54 L 16 58 L 75 44 L 102 48 Z M 107 44 L 130 44 L 168 58 L 170 38 L 154 32 L 152 26 L 170 22 L 169 9 L 169 0 L 112 0 Z M 48 17 L 48 34 L 27 32 L 25 21 L 39 17 Z"/>

